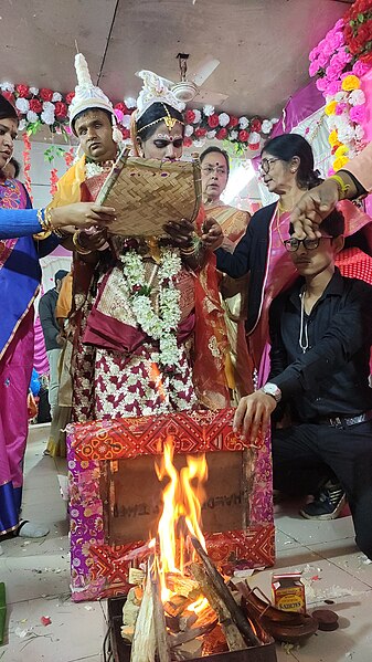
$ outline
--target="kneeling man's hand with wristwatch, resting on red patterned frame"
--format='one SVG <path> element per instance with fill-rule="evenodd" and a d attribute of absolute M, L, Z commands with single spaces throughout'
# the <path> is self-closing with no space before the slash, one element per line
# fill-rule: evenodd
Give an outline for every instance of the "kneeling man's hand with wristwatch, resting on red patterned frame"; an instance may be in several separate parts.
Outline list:
<path fill-rule="evenodd" d="M 234 432 L 241 431 L 243 437 L 254 443 L 258 433 L 265 438 L 270 416 L 276 408 L 276 401 L 264 391 L 255 391 L 240 401 L 234 417 Z"/>

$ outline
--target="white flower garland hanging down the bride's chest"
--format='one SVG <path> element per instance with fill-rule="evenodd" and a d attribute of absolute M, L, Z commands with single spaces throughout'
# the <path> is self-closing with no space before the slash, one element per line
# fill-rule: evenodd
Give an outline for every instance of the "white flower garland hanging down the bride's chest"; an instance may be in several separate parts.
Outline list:
<path fill-rule="evenodd" d="M 180 292 L 174 279 L 182 267 L 179 253 L 161 249 L 159 281 L 159 314 L 151 303 L 151 286 L 146 282 L 142 256 L 135 250 L 123 258 L 123 273 L 126 277 L 128 298 L 137 324 L 151 338 L 159 341 L 159 362 L 167 367 L 178 366 L 181 354 L 177 344 L 177 330 L 181 319 Z"/>

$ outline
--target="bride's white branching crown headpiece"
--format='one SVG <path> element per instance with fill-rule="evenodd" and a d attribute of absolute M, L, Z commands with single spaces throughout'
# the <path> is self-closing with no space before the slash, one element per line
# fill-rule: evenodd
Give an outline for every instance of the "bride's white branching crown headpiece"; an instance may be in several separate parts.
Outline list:
<path fill-rule="evenodd" d="M 140 91 L 137 99 L 136 120 L 138 120 L 144 113 L 146 113 L 146 111 L 157 102 L 168 104 L 176 111 L 182 113 L 184 109 L 184 103 L 179 102 L 171 91 L 171 87 L 174 86 L 174 83 L 168 81 L 167 78 L 161 78 L 152 71 L 139 71 L 136 73 L 136 76 L 142 78 L 144 81 L 142 90 Z"/>

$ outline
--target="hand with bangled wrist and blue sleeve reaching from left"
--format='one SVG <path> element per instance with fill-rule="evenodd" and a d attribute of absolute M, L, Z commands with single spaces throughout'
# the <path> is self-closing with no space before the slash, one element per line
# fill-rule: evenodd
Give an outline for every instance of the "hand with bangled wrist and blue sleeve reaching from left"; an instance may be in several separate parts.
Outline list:
<path fill-rule="evenodd" d="M 68 225 L 76 229 L 91 228 L 92 225 L 106 227 L 115 221 L 115 209 L 111 207 L 99 207 L 93 202 L 76 202 L 50 210 L 52 225 L 55 229 L 64 229 L 71 232 Z"/>

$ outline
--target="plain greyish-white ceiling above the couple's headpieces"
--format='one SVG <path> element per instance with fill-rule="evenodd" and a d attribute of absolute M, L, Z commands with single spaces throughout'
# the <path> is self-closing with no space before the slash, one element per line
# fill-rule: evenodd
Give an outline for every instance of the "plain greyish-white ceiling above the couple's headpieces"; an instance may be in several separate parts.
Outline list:
<path fill-rule="evenodd" d="M 1 0 L 2 81 L 68 92 L 75 40 L 91 74 L 114 99 L 137 96 L 135 72 L 178 78 L 211 54 L 204 84 L 237 115 L 277 115 L 308 82 L 308 53 L 347 10 L 342 0 Z"/>

